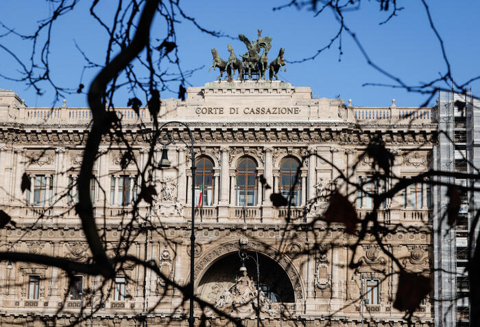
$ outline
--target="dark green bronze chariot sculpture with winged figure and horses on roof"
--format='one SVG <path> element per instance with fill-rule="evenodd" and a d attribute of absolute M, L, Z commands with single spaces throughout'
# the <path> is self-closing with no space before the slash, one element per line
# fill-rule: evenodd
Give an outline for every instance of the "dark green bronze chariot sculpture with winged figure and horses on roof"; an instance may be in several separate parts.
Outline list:
<path fill-rule="evenodd" d="M 241 60 L 237 58 L 233 50 L 232 45 L 228 45 L 227 49 L 230 52 L 228 61 L 225 61 L 220 58 L 217 49 L 212 49 L 213 55 L 213 65 L 211 65 L 210 71 L 212 68 L 218 68 L 220 75 L 217 77 L 217 80 L 220 81 L 226 72 L 227 76 L 225 80 L 233 80 L 235 71 L 237 71 L 237 79 L 243 80 L 245 76 L 248 75 L 248 79 L 252 79 L 252 76 L 256 75 L 257 79 L 263 78 L 266 80 L 265 73 L 269 69 L 269 80 L 272 78 L 278 80 L 277 73 L 281 70 L 282 67 L 285 67 L 284 71 L 287 71 L 287 66 L 285 64 L 285 58 L 283 54 L 285 49 L 280 47 L 278 56 L 275 60 L 272 60 L 271 63 L 268 63 L 267 54 L 272 49 L 272 38 L 270 36 L 261 36 L 262 30 L 258 30 L 258 38 L 256 40 L 250 41 L 245 35 L 239 34 L 239 39 L 247 47 L 247 52 L 241 54 Z"/>

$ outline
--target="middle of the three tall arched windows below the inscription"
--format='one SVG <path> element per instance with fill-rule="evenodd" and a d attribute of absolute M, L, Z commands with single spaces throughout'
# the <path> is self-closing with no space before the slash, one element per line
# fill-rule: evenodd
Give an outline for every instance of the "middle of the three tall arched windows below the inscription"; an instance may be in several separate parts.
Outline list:
<path fill-rule="evenodd" d="M 250 158 L 242 158 L 237 166 L 237 205 L 256 205 L 256 164 Z"/>

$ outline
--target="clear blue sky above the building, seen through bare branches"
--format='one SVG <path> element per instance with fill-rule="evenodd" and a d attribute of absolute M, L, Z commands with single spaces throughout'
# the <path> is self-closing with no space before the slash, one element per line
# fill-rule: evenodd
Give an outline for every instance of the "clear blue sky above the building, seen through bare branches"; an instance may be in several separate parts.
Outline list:
<path fill-rule="evenodd" d="M 112 0 L 113 2 L 113 0 Z M 272 36 L 272 50 L 269 59 L 273 60 L 280 47 L 285 48 L 287 60 L 298 60 L 315 54 L 328 43 L 337 32 L 338 24 L 330 12 L 313 17 L 313 12 L 286 8 L 273 11 L 272 8 L 288 0 L 276 1 L 180 1 L 184 12 L 194 16 L 198 23 L 211 30 L 218 30 L 232 36 L 239 33 L 249 38 L 256 37 L 257 28 L 263 36 Z M 363 47 L 374 63 L 407 82 L 418 84 L 437 78 L 446 71 L 440 52 L 440 44 L 429 27 L 427 14 L 421 1 L 399 1 L 405 9 L 389 23 L 379 25 L 387 14 L 379 11 L 376 1 L 363 1 L 359 11 L 346 13 L 346 21 L 359 37 Z M 427 1 L 438 32 L 445 42 L 446 52 L 451 61 L 453 75 L 457 82 L 480 75 L 478 53 L 480 44 L 480 1 Z M 84 60 L 75 48 L 75 42 L 93 60 L 103 62 L 106 49 L 106 35 L 88 14 L 91 1 L 80 1 L 75 12 L 58 21 L 53 31 L 51 45 L 51 71 L 55 81 L 76 89 L 82 76 Z M 461 3 L 461 7 L 458 5 Z M 111 14 L 111 2 L 103 1 L 99 12 L 105 17 Z M 15 27 L 19 32 L 29 32 L 36 21 L 49 14 L 49 7 L 40 0 L 2 0 L 0 21 Z M 177 27 L 178 47 L 183 69 L 202 67 L 189 78 L 189 84 L 200 86 L 215 80 L 217 71 L 208 73 L 211 65 L 211 48 L 215 47 L 222 58 L 228 59 L 227 45 L 232 44 L 237 56 L 245 52 L 245 45 L 239 40 L 214 38 L 203 34 L 187 21 Z M 3 34 L 4 31 L 0 32 Z M 163 38 L 164 29 L 156 21 L 152 38 Z M 30 43 L 18 38 L 0 39 L 0 44 L 28 58 Z M 281 79 L 294 86 L 309 86 L 313 96 L 352 99 L 357 106 L 388 106 L 396 98 L 399 106 L 418 106 L 424 102 L 424 95 L 408 93 L 403 89 L 388 87 L 364 87 L 365 82 L 390 83 L 385 76 L 370 67 L 361 55 L 359 48 L 347 34 L 342 38 L 343 55 L 339 61 L 338 43 L 331 49 L 311 60 L 300 64 L 287 64 L 287 72 Z M 18 76 L 18 66 L 12 58 L 0 50 L 0 71 L 8 76 Z M 82 82 L 88 82 L 97 70 L 84 73 Z M 446 87 L 442 84 L 442 87 Z M 472 91 L 480 95 L 480 83 L 471 85 Z M 27 106 L 50 106 L 53 100 L 51 89 L 45 84 L 45 94 L 36 95 L 32 88 L 21 82 L 0 78 L 0 88 L 13 89 L 26 100 Z M 178 83 L 171 85 L 178 89 Z M 164 91 L 162 98 L 176 97 L 175 93 Z M 116 106 L 125 106 L 131 95 L 127 91 L 117 94 Z M 85 94 L 66 95 L 69 106 L 86 106 Z M 56 105 L 59 105 L 58 103 Z"/>

